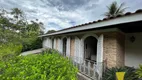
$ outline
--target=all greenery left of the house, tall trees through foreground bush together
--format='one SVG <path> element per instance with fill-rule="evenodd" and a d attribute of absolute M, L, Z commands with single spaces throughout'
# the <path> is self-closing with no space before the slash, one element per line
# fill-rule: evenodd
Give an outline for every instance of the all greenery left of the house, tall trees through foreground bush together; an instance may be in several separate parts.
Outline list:
<path fill-rule="evenodd" d="M 18 8 L 0 10 L 0 80 L 76 80 L 77 68 L 58 51 L 19 56 L 42 46 L 42 29 L 38 19 L 27 21 Z"/>

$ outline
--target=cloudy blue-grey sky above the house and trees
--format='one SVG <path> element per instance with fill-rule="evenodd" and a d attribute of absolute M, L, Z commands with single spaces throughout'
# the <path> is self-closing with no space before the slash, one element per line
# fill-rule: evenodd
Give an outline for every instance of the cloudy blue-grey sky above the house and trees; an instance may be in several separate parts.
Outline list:
<path fill-rule="evenodd" d="M 0 0 L 0 8 L 21 9 L 27 19 L 43 22 L 46 32 L 103 19 L 113 1 L 124 2 L 126 12 L 142 9 L 142 0 Z"/>

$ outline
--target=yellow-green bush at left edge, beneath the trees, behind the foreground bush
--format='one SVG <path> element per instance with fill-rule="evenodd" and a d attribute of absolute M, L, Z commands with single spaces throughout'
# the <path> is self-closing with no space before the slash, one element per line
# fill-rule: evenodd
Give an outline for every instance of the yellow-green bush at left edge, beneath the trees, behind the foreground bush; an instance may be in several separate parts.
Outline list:
<path fill-rule="evenodd" d="M 22 50 L 21 44 L 7 43 L 0 44 L 0 60 L 6 61 L 16 55 L 19 55 Z"/>

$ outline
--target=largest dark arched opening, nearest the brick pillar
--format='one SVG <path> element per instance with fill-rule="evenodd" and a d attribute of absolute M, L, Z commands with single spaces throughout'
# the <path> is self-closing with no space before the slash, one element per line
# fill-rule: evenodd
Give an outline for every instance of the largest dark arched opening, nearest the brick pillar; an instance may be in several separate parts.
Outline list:
<path fill-rule="evenodd" d="M 89 36 L 84 40 L 84 57 L 86 60 L 95 61 L 97 59 L 97 39 Z"/>

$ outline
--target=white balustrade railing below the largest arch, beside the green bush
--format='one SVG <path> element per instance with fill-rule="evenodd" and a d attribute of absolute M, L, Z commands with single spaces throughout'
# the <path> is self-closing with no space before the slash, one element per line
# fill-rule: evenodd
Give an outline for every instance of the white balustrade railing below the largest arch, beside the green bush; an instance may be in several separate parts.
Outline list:
<path fill-rule="evenodd" d="M 88 76 L 89 78 L 93 80 L 100 80 L 100 76 L 102 75 L 101 67 L 102 63 L 97 63 L 92 60 L 83 60 L 81 58 L 72 57 L 73 65 L 76 66 L 79 69 L 79 72 L 85 76 Z M 100 64 L 100 65 L 98 65 Z"/>

